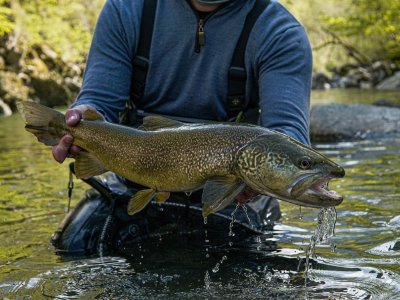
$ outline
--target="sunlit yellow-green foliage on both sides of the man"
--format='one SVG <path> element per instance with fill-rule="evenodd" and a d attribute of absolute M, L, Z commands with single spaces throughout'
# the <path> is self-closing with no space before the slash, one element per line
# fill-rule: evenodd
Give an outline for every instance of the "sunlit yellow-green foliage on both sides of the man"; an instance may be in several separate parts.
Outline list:
<path fill-rule="evenodd" d="M 0 36 L 23 52 L 45 45 L 66 62 L 84 62 L 105 0 L 0 0 Z M 303 23 L 314 65 L 390 60 L 400 62 L 400 1 L 281 0 Z"/>

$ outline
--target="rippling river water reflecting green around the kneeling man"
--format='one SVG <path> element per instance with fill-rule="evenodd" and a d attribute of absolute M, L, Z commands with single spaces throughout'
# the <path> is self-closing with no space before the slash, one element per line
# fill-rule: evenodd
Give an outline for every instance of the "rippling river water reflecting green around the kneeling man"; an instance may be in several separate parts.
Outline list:
<path fill-rule="evenodd" d="M 354 93 L 359 102 L 378 98 Z M 314 103 L 346 97 L 355 98 L 313 95 Z M 57 256 L 49 237 L 65 214 L 67 164 L 55 163 L 19 116 L 0 118 L 0 128 L 0 299 L 400 299 L 400 140 L 314 144 L 346 169 L 330 184 L 345 200 L 305 283 L 319 210 L 283 202 L 274 231 L 239 244 L 167 232 L 123 256 Z M 75 186 L 73 205 L 87 188 Z"/>

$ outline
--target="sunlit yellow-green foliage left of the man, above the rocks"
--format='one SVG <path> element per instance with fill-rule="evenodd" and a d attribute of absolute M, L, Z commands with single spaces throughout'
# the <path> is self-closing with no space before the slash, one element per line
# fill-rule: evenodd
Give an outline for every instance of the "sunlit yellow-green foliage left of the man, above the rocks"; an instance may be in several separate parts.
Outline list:
<path fill-rule="evenodd" d="M 104 0 L 12 1 L 15 33 L 27 49 L 46 45 L 64 61 L 83 61 Z"/>

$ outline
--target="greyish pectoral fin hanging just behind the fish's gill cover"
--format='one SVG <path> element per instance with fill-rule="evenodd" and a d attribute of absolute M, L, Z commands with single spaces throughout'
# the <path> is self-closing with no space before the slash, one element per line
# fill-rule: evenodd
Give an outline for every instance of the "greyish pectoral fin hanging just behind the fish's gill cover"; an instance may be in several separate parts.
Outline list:
<path fill-rule="evenodd" d="M 227 207 L 245 186 L 235 177 L 218 177 L 207 181 L 201 196 L 203 216 L 206 217 Z"/>

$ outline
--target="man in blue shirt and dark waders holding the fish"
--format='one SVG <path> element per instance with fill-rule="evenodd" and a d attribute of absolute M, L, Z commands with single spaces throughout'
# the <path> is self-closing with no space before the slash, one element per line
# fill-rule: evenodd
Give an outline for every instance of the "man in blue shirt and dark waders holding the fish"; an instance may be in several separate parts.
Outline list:
<path fill-rule="evenodd" d="M 309 145 L 311 69 L 304 28 L 276 1 L 107 0 L 82 89 L 65 118 L 75 126 L 89 108 L 110 122 L 122 120 L 132 126 L 147 115 L 194 123 L 239 121 L 244 115 L 245 122 L 256 119 Z M 72 136 L 65 135 L 52 153 L 62 163 L 79 151 Z M 124 192 L 126 187 L 140 189 L 119 178 L 108 186 Z M 175 195 L 166 204 L 184 203 L 179 207 L 190 210 L 201 205 L 198 198 L 197 193 Z M 249 199 L 253 201 L 245 206 L 257 228 L 280 218 L 276 199 L 257 196 L 248 188 L 236 200 Z M 79 203 L 53 236 L 56 248 L 66 253 L 96 251 L 99 228 L 110 214 L 107 201 L 88 195 Z M 123 211 L 126 203 L 121 203 L 116 207 Z M 235 205 L 221 216 L 230 218 L 233 210 Z M 155 211 L 149 208 L 128 217 L 114 209 L 113 222 L 124 224 L 114 227 L 119 228 L 114 246 L 134 244 L 160 219 L 158 223 L 173 222 L 165 220 L 162 209 Z M 236 219 L 247 220 L 240 211 Z"/>

